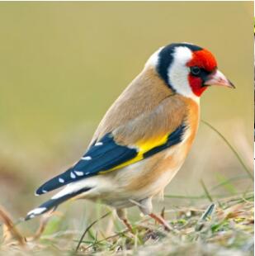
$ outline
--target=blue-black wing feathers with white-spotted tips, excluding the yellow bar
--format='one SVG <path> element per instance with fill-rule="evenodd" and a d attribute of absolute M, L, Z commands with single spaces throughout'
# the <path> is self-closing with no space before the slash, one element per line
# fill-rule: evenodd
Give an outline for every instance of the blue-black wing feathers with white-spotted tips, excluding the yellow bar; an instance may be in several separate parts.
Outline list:
<path fill-rule="evenodd" d="M 131 159 L 132 163 L 135 163 L 141 159 L 148 158 L 163 149 L 168 149 L 172 145 L 180 143 L 185 129 L 186 126 L 184 124 L 178 126 L 176 130 L 168 135 L 163 144 L 154 146 L 146 152 L 142 152 L 142 155 L 139 155 L 138 148 L 118 145 L 111 133 L 106 134 L 102 140 L 97 141 L 96 144 L 92 145 L 91 148 L 87 150 L 87 153 L 83 155 L 82 159 L 80 159 L 77 164 L 69 168 L 66 172 L 50 179 L 50 181 L 40 186 L 35 193 L 41 195 L 67 185 L 68 183 L 73 183 L 80 179 L 109 171 L 112 168 L 118 168 L 118 166 L 123 166 L 122 164 L 125 164 L 125 162 Z"/>

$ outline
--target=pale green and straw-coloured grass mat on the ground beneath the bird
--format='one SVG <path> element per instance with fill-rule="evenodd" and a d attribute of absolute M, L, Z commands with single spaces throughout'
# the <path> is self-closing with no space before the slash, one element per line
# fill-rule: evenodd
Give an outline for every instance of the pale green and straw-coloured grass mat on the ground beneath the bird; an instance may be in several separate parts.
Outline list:
<path fill-rule="evenodd" d="M 59 230 L 63 216 L 55 215 L 45 218 L 45 229 L 36 238 L 27 237 L 25 243 L 5 230 L 1 250 L 28 255 L 253 255 L 253 192 L 215 200 L 164 211 L 171 232 L 146 216 L 133 223 L 134 234 L 116 231 L 119 220 L 111 212 L 93 221 L 86 232 Z M 113 221 L 111 234 L 100 225 L 103 218 Z"/>

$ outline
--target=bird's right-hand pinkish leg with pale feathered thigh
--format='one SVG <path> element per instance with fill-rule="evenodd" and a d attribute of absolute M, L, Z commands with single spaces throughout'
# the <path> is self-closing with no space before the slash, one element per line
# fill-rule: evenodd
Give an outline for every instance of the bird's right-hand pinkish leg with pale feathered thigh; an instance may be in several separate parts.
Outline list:
<path fill-rule="evenodd" d="M 168 225 L 168 222 L 164 220 L 162 216 L 157 216 L 152 212 L 153 210 L 152 197 L 145 198 L 144 200 L 139 201 L 139 204 L 140 204 L 139 209 L 144 213 L 144 215 L 148 215 L 154 220 L 156 220 L 159 224 L 163 225 L 165 230 L 168 230 L 168 231 L 172 230 L 170 225 Z"/>

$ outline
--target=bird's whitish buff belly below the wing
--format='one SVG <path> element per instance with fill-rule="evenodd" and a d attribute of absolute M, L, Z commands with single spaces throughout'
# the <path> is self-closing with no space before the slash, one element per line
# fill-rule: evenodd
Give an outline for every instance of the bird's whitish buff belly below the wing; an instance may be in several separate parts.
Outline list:
<path fill-rule="evenodd" d="M 164 157 L 172 154 L 171 150 L 165 150 Z M 151 159 L 144 159 L 138 163 L 131 164 L 125 168 L 121 168 L 113 173 L 99 175 L 91 179 L 91 183 L 97 183 L 98 186 L 87 192 L 85 198 L 91 200 L 100 199 L 103 203 L 116 208 L 134 206 L 131 200 L 141 201 L 148 197 L 153 197 L 162 192 L 164 187 L 171 182 L 177 171 L 181 168 L 184 159 L 180 161 L 174 168 L 169 167 L 163 170 L 159 175 L 154 176 L 153 182 L 148 182 L 145 186 L 139 187 L 139 183 L 134 188 L 130 188 L 137 180 L 145 178 L 150 172 L 156 172 L 155 169 L 147 169 Z M 142 185 L 142 184 L 141 184 Z"/>

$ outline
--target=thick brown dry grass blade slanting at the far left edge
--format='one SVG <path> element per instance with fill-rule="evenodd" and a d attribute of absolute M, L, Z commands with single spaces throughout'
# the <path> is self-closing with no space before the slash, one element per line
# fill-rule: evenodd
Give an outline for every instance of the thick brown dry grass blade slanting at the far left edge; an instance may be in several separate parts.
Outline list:
<path fill-rule="evenodd" d="M 9 216 L 6 210 L 0 206 L 0 219 L 2 220 L 3 224 L 7 227 L 6 232 L 11 235 L 13 239 L 16 239 L 18 244 L 25 246 L 26 239 L 20 234 L 20 232 L 15 227 L 12 218 Z M 8 234 L 6 234 L 8 236 Z"/>

